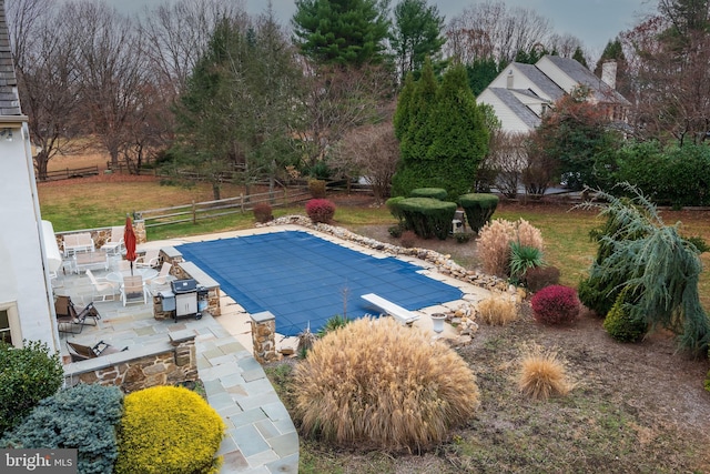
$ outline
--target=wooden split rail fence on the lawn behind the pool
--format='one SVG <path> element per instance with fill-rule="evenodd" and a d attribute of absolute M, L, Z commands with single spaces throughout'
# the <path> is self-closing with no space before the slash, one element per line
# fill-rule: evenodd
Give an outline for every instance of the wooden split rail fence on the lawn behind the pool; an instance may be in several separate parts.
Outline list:
<path fill-rule="evenodd" d="M 253 210 L 256 204 L 262 202 L 271 206 L 285 206 L 308 199 L 311 199 L 311 193 L 306 188 L 283 188 L 273 192 L 240 195 L 239 198 L 193 202 L 192 204 L 174 205 L 172 208 L 150 209 L 148 211 L 140 211 L 136 214 L 145 222 L 145 228 L 155 228 L 181 222 L 196 223 L 204 219 L 244 213 Z"/>

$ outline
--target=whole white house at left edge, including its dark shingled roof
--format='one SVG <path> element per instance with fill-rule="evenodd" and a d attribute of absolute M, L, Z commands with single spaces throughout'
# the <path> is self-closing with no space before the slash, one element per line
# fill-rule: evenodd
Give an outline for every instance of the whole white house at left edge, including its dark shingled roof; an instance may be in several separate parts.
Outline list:
<path fill-rule="evenodd" d="M 53 352 L 59 333 L 27 121 L 0 0 L 0 339 L 18 347 L 23 340 L 43 341 Z"/>

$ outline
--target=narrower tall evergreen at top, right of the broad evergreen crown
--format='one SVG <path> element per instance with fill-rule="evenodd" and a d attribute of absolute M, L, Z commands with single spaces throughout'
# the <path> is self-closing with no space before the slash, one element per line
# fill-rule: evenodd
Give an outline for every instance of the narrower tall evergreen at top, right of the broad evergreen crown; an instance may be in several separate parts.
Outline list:
<path fill-rule="evenodd" d="M 426 0 L 402 0 L 395 7 L 394 27 L 390 41 L 403 80 L 408 72 L 420 70 L 427 57 L 434 62 L 440 60 L 446 38 L 442 36 L 444 17 L 437 7 L 427 6 Z"/>

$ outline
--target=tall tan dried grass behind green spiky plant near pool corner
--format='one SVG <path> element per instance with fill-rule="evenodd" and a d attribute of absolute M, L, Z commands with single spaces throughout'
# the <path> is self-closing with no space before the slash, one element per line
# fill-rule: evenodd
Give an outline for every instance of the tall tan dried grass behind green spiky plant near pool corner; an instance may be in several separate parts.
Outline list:
<path fill-rule="evenodd" d="M 478 232 L 477 251 L 480 264 L 486 273 L 496 276 L 509 276 L 510 242 L 524 246 L 545 250 L 542 233 L 525 219 L 516 222 L 496 219 Z"/>

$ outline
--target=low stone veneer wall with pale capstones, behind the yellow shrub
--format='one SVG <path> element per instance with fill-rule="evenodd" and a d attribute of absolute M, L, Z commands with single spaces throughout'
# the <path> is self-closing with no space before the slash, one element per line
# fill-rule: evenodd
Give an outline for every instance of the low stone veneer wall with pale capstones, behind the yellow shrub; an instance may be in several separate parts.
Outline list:
<path fill-rule="evenodd" d="M 195 334 L 178 331 L 170 343 L 154 344 L 64 365 L 68 386 L 78 383 L 115 385 L 123 393 L 197 380 Z"/>

